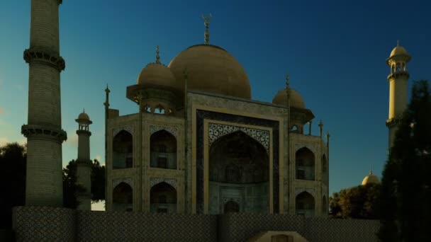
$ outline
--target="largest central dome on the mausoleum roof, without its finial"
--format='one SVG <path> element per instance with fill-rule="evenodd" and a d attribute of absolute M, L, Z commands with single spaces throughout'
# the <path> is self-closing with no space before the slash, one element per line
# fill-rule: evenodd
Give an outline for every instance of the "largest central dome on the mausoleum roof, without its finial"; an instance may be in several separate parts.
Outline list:
<path fill-rule="evenodd" d="M 225 96 L 251 98 L 250 81 L 241 64 L 223 48 L 215 45 L 194 45 L 172 59 L 168 67 L 184 90 L 184 69 L 187 88 Z"/>

